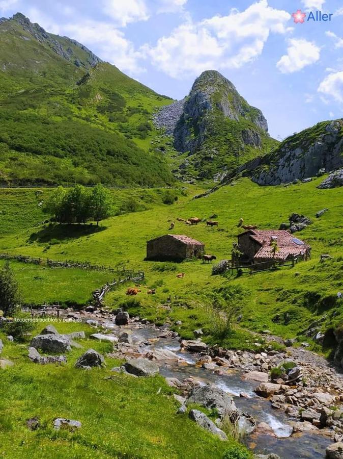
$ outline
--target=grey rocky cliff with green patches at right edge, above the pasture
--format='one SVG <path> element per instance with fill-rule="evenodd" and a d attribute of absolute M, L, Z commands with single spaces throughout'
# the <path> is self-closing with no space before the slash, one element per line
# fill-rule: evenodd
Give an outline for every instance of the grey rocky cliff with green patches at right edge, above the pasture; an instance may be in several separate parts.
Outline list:
<path fill-rule="evenodd" d="M 238 169 L 259 185 L 303 180 L 343 166 L 343 119 L 323 121 L 285 139 L 269 154 Z"/>

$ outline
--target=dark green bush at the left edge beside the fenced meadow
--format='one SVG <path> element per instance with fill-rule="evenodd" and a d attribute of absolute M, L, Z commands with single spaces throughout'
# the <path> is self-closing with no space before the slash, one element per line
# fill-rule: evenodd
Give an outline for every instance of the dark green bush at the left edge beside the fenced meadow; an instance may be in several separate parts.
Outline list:
<path fill-rule="evenodd" d="M 7 261 L 0 270 L 0 309 L 4 316 L 13 314 L 19 302 L 18 284 Z"/>

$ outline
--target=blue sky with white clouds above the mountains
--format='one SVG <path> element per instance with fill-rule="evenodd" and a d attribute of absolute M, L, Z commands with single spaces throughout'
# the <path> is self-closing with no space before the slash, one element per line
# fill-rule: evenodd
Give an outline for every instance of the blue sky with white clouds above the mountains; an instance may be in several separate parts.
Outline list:
<path fill-rule="evenodd" d="M 304 23 L 293 20 L 298 9 Z M 216 69 L 275 138 L 343 116 L 341 1 L 0 0 L 0 16 L 17 11 L 174 98 Z M 311 11 L 331 21 L 306 21 Z"/>

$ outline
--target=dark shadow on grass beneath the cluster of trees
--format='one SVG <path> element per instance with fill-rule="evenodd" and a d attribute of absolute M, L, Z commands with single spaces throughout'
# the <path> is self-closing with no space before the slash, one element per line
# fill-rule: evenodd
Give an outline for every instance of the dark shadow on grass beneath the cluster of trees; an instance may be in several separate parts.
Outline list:
<path fill-rule="evenodd" d="M 96 225 L 79 225 L 79 224 L 63 224 L 51 223 L 37 233 L 32 233 L 28 238 L 29 243 L 39 242 L 47 243 L 54 242 L 56 244 L 66 239 L 78 239 L 84 236 L 90 236 L 94 233 L 99 233 L 107 229 L 107 226 Z"/>

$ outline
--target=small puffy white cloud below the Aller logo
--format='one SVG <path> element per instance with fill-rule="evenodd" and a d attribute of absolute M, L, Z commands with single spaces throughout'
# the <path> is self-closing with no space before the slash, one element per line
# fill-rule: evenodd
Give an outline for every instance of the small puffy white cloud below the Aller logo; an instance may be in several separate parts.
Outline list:
<path fill-rule="evenodd" d="M 293 73 L 307 65 L 314 64 L 320 58 L 320 47 L 304 38 L 288 40 L 287 54 L 277 62 L 281 73 Z"/>

